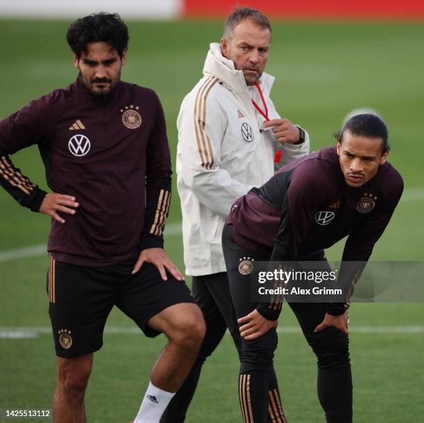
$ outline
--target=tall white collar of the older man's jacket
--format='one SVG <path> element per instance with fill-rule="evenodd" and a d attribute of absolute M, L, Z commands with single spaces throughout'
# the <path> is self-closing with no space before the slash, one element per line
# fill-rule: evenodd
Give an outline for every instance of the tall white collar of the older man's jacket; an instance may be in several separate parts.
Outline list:
<path fill-rule="evenodd" d="M 204 75 L 213 75 L 222 80 L 230 91 L 246 92 L 250 88 L 247 87 L 242 71 L 237 71 L 234 68 L 234 62 L 222 55 L 219 43 L 210 44 L 209 52 L 204 62 L 203 73 Z M 274 80 L 275 78 L 272 75 L 264 72 L 258 81 L 260 88 L 267 96 L 270 95 Z"/>

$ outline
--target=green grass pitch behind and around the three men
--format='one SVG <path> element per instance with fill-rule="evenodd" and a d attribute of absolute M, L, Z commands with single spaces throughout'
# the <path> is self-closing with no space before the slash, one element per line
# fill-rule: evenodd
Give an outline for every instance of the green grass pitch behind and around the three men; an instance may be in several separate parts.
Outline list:
<path fill-rule="evenodd" d="M 0 21 L 0 118 L 76 78 L 64 34 L 69 22 Z M 168 122 L 173 159 L 175 121 L 185 93 L 199 80 L 219 22 L 128 22 L 130 49 L 123 80 L 157 91 Z M 272 98 L 281 115 L 308 129 L 312 150 L 331 145 L 332 132 L 356 107 L 377 109 L 387 120 L 389 161 L 403 174 L 405 195 L 372 260 L 424 259 L 424 26 L 422 24 L 274 24 L 267 71 L 276 76 Z M 45 188 L 36 147 L 13 156 L 15 165 Z M 173 160 L 174 161 L 174 160 Z M 169 222 L 181 221 L 175 189 Z M 46 216 L 21 208 L 0 192 L 0 257 L 4 251 L 46 242 Z M 181 235 L 166 236 L 181 268 Z M 341 245 L 328 251 L 337 260 Z M 46 255 L 0 261 L 0 333 L 4 328 L 48 328 Z M 402 280 L 399 280 L 402 283 Z M 296 327 L 283 307 L 282 330 Z M 351 356 L 357 423 L 424 422 L 424 309 L 420 303 L 354 304 Z M 89 422 L 130 422 L 165 343 L 145 339 L 112 312 L 87 390 Z M 370 327 L 369 333 L 357 330 Z M 395 332 L 394 327 L 405 327 Z M 418 327 L 412 333 L 411 327 Z M 378 332 L 378 329 L 387 332 Z M 315 357 L 301 334 L 279 334 L 276 352 L 283 406 L 290 422 L 324 422 L 317 395 Z M 238 360 L 225 336 L 204 367 L 188 423 L 240 422 Z M 51 408 L 55 354 L 50 333 L 28 339 L 0 336 L 0 409 Z M 18 420 L 15 420 L 18 421 Z M 20 421 L 20 420 L 19 420 Z M 28 422 L 30 420 L 22 420 Z M 34 420 L 35 421 L 35 420 Z M 39 421 L 39 420 L 37 420 Z"/>

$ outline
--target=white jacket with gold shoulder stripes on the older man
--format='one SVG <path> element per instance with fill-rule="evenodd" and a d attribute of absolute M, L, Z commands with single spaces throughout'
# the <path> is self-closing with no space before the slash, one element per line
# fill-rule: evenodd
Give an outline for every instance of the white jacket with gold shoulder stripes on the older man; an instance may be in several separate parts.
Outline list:
<path fill-rule="evenodd" d="M 264 118 L 256 87 L 247 87 L 242 71 L 213 43 L 204 77 L 184 98 L 177 119 L 177 188 L 183 217 L 186 273 L 205 276 L 226 271 L 221 246 L 224 218 L 231 204 L 274 174 L 274 136 L 260 132 Z M 270 119 L 280 118 L 270 99 L 274 77 L 263 73 L 259 84 Z M 283 164 L 309 153 L 283 143 Z"/>

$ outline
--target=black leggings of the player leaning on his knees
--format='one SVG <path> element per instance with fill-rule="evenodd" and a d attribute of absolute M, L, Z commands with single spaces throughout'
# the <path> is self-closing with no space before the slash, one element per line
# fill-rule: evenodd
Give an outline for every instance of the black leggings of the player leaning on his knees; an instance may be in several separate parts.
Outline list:
<path fill-rule="evenodd" d="M 229 287 L 238 318 L 246 316 L 256 308 L 251 303 L 249 276 L 238 271 L 240 258 L 250 257 L 256 261 L 270 260 L 270 254 L 259 254 L 238 245 L 233 239 L 233 226 L 226 224 L 222 233 L 222 249 L 229 278 Z M 308 260 L 325 260 L 324 253 Z M 326 413 L 328 423 L 352 422 L 352 377 L 348 351 L 348 336 L 328 327 L 314 333 L 315 327 L 324 320 L 327 305 L 322 303 L 290 303 L 299 321 L 308 344 L 317 355 L 318 397 Z M 277 346 L 276 330 L 254 341 L 242 339 L 242 357 L 240 366 L 240 403 L 243 417 L 255 423 L 267 422 L 268 406 L 272 400 L 267 397 L 268 375 L 272 368 L 274 351 Z"/>

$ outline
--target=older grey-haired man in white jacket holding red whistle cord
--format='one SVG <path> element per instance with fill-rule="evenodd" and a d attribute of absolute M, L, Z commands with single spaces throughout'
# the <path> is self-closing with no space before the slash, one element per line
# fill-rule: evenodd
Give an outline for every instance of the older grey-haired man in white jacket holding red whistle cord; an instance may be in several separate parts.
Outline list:
<path fill-rule="evenodd" d="M 270 22 L 262 13 L 236 9 L 224 24 L 220 44 L 211 44 L 204 77 L 179 112 L 177 188 L 184 262 L 187 275 L 193 276 L 192 292 L 204 313 L 206 336 L 191 374 L 161 422 L 184 421 L 202 364 L 227 327 L 241 352 L 221 246 L 231 204 L 270 179 L 274 161 L 283 165 L 309 153 L 308 134 L 281 118 L 270 99 L 274 78 L 263 72 L 270 42 Z M 285 422 L 274 372 L 269 397 L 270 421 Z"/>

